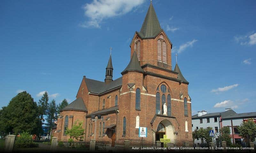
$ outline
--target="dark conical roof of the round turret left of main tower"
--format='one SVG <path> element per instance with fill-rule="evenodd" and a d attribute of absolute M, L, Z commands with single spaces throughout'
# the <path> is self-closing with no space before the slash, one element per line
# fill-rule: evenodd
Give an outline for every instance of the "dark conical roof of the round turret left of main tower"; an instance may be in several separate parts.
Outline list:
<path fill-rule="evenodd" d="M 128 64 L 128 66 L 121 72 L 121 74 L 123 75 L 124 73 L 126 73 L 128 71 L 139 71 L 139 72 L 144 73 L 144 70 L 140 66 L 136 52 L 133 52 L 132 58 Z"/>

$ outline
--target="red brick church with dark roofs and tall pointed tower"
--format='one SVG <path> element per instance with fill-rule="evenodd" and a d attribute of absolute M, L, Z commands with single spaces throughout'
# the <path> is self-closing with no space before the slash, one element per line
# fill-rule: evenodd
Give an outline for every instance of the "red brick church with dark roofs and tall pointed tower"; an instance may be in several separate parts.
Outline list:
<path fill-rule="evenodd" d="M 146 127 L 145 142 L 159 141 L 163 135 L 172 143 L 192 142 L 189 82 L 177 63 L 172 70 L 172 43 L 152 3 L 130 48 L 122 77 L 112 79 L 111 55 L 104 82 L 83 76 L 76 100 L 61 110 L 53 136 L 69 139 L 65 131 L 78 120 L 83 121 L 85 141 L 140 141 L 139 127 Z"/>

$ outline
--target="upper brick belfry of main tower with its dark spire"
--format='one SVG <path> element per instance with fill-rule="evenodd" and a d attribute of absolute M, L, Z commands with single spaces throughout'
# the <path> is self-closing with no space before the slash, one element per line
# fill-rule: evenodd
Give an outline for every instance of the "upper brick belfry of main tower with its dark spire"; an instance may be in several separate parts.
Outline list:
<path fill-rule="evenodd" d="M 152 2 L 140 32 L 135 32 L 130 44 L 131 56 L 136 51 L 141 67 L 172 70 L 172 43 L 161 28 Z"/>

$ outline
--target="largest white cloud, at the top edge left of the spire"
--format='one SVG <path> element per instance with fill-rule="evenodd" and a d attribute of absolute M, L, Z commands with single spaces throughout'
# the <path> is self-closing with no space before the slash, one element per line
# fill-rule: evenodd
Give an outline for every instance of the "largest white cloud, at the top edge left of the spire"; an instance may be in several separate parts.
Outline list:
<path fill-rule="evenodd" d="M 89 18 L 81 27 L 100 28 L 104 19 L 120 16 L 136 9 L 137 6 L 144 3 L 145 0 L 93 0 L 83 6 L 84 14 Z"/>

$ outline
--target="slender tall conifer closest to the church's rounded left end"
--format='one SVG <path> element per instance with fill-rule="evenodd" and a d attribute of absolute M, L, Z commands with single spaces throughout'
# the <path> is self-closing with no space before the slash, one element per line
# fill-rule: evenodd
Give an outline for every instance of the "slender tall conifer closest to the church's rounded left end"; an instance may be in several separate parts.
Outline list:
<path fill-rule="evenodd" d="M 56 106 L 56 102 L 54 99 L 51 100 L 48 110 L 46 111 L 47 113 L 47 117 L 46 117 L 46 121 L 47 121 L 47 126 L 49 127 L 49 135 L 48 135 L 48 139 L 50 138 L 50 132 L 52 130 L 52 127 L 54 126 L 53 120 L 57 119 L 56 118 L 56 113 L 57 113 L 57 106 Z"/>

